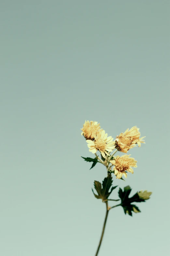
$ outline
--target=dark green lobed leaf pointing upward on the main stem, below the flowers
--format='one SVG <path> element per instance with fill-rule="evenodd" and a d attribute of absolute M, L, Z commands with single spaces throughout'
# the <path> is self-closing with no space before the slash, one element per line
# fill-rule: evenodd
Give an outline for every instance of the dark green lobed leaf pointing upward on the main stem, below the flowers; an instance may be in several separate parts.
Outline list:
<path fill-rule="evenodd" d="M 109 189 L 112 185 L 112 176 L 111 174 L 109 174 L 102 182 L 102 184 L 99 182 L 99 181 L 96 181 L 94 180 L 94 188 L 95 190 L 97 191 L 97 194 L 96 195 L 92 189 L 92 192 L 94 194 L 94 196 L 98 199 L 102 199 L 102 201 L 105 201 L 109 196 L 110 194 L 112 193 L 112 191 L 117 187 L 112 187 L 110 192 L 109 192 Z"/>

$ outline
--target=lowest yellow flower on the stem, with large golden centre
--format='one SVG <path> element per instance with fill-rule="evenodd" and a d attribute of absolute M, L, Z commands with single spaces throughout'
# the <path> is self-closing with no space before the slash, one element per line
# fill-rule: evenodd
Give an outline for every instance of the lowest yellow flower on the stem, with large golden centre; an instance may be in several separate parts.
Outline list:
<path fill-rule="evenodd" d="M 113 170 L 115 171 L 114 174 L 117 175 L 116 179 L 121 179 L 124 175 L 125 178 L 127 178 L 127 174 L 125 171 L 134 173 L 134 170 L 132 167 L 137 167 L 136 160 L 131 155 L 123 155 L 123 156 L 115 156 L 114 160 L 110 160 L 110 162 L 115 165 L 113 167 Z"/>

